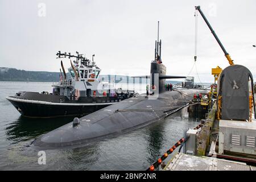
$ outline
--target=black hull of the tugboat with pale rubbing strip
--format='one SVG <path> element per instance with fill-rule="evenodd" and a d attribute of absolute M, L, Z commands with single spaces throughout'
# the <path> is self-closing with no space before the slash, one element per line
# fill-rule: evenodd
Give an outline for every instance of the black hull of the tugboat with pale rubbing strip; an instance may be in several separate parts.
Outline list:
<path fill-rule="evenodd" d="M 69 100 L 65 96 L 23 92 L 19 96 L 7 97 L 20 114 L 26 117 L 58 117 L 77 115 L 82 117 L 106 106 L 115 104 L 124 97 L 80 97 L 79 100 Z"/>

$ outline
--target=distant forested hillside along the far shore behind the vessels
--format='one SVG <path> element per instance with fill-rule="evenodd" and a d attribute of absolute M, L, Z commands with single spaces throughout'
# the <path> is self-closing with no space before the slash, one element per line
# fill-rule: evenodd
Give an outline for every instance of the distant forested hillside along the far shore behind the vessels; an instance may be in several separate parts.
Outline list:
<path fill-rule="evenodd" d="M 67 74 L 68 77 L 70 76 Z M 102 81 L 108 81 L 109 78 L 113 82 L 125 84 L 127 82 L 127 76 L 123 75 L 100 75 L 99 78 Z M 60 80 L 59 72 L 39 72 L 39 71 L 24 71 L 15 68 L 3 68 L 0 67 L 0 81 L 42 81 L 42 82 L 57 82 Z M 149 83 L 146 78 L 135 78 L 135 83 L 139 84 Z M 180 81 L 167 81 L 167 83 L 176 84 Z M 129 77 L 129 84 L 133 84 L 133 78 Z"/>

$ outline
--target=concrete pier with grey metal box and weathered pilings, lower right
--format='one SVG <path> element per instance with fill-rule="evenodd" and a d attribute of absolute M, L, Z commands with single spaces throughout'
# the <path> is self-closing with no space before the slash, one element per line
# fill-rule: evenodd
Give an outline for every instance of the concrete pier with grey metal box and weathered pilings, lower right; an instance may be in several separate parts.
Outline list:
<path fill-rule="evenodd" d="M 164 170 L 256 170 L 256 119 L 226 121 L 217 119 L 216 111 L 214 103 L 200 129 L 187 131 L 183 153 L 177 152 Z"/>

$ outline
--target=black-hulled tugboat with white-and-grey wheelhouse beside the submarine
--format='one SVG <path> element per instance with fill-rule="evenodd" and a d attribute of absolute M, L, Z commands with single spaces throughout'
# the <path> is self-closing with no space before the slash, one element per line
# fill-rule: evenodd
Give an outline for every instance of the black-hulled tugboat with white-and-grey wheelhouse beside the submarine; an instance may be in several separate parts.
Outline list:
<path fill-rule="evenodd" d="M 98 79 L 101 69 L 96 63 L 76 52 L 57 52 L 57 58 L 75 57 L 68 73 L 61 60 L 60 81 L 53 84 L 52 93 L 18 92 L 6 97 L 20 114 L 26 117 L 56 117 L 64 115 L 86 115 L 103 107 L 135 96 L 134 90 L 115 89 L 108 82 Z M 62 56 L 62 57 L 61 57 Z"/>

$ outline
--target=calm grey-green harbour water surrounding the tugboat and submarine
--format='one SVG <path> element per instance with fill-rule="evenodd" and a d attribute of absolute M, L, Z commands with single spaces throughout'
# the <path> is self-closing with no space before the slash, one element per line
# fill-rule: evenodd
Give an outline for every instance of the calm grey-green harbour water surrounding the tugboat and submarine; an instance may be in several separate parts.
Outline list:
<path fill-rule="evenodd" d="M 20 90 L 51 92 L 51 84 L 0 82 L 0 169 L 145 170 L 183 137 L 184 131 L 199 125 L 196 119 L 188 118 L 185 107 L 163 121 L 119 137 L 82 148 L 47 150 L 46 165 L 39 165 L 38 151 L 27 145 L 36 137 L 72 121 L 73 117 L 51 119 L 21 117 L 5 98 Z M 167 160 L 170 158 L 171 156 L 168 156 Z"/>

